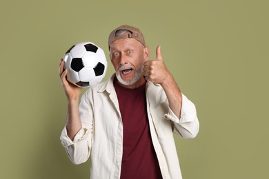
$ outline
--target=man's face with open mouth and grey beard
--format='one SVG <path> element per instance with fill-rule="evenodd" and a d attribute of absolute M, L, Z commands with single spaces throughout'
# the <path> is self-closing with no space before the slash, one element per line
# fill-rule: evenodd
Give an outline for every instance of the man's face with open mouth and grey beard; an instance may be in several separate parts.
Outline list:
<path fill-rule="evenodd" d="M 110 59 L 122 85 L 139 86 L 144 82 L 143 63 L 149 50 L 135 39 L 119 39 L 110 44 Z"/>

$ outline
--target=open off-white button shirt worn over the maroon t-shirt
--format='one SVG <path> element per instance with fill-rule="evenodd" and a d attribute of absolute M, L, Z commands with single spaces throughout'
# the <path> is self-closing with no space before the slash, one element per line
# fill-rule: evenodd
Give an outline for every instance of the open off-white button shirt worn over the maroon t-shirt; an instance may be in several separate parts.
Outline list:
<path fill-rule="evenodd" d="M 90 87 L 81 97 L 79 110 L 82 128 L 74 140 L 68 137 L 66 127 L 61 133 L 61 143 L 74 164 L 86 162 L 91 156 L 92 179 L 120 178 L 123 124 L 113 79 L 114 76 Z M 183 138 L 195 138 L 199 131 L 195 105 L 183 94 L 182 97 L 179 119 L 168 107 L 161 85 L 147 83 L 150 134 L 163 179 L 182 178 L 173 132 Z"/>

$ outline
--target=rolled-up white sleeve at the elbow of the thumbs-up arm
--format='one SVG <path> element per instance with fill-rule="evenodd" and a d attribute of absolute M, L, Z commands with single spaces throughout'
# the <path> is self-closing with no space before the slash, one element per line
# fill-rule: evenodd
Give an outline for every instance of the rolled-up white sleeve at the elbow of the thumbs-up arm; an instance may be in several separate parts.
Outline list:
<path fill-rule="evenodd" d="M 195 138 L 199 131 L 199 120 L 195 105 L 182 94 L 181 116 L 178 118 L 170 107 L 168 114 L 165 114 L 166 119 L 172 120 L 174 123 L 174 132 L 181 135 L 183 138 Z"/>

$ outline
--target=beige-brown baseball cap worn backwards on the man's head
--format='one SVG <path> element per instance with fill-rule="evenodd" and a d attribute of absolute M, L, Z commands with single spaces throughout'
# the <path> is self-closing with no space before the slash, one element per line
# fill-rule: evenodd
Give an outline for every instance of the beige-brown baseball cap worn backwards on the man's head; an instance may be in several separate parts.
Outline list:
<path fill-rule="evenodd" d="M 128 34 L 116 36 L 116 33 L 118 30 L 128 30 L 128 31 L 130 31 L 130 34 L 128 33 Z M 144 45 L 144 47 L 146 47 L 144 36 L 138 28 L 134 28 L 130 25 L 121 25 L 121 26 L 119 26 L 119 28 L 116 28 L 115 30 L 113 30 L 110 33 L 110 35 L 108 37 L 108 49 L 110 48 L 110 44 L 112 42 L 119 40 L 119 39 L 130 39 L 130 38 L 136 39 L 137 41 L 141 42 Z"/>

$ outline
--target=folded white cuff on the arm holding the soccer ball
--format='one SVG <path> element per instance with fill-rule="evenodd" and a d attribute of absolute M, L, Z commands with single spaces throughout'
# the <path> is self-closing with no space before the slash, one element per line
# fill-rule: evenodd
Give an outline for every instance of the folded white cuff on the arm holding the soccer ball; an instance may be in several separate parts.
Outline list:
<path fill-rule="evenodd" d="M 79 132 L 74 136 L 74 140 L 72 141 L 67 134 L 66 127 L 63 128 L 63 131 L 61 132 L 61 145 L 63 147 L 68 147 L 70 145 L 74 145 L 74 143 L 77 143 L 78 140 L 82 140 L 83 138 L 86 138 L 88 136 L 88 129 L 81 128 Z"/>

